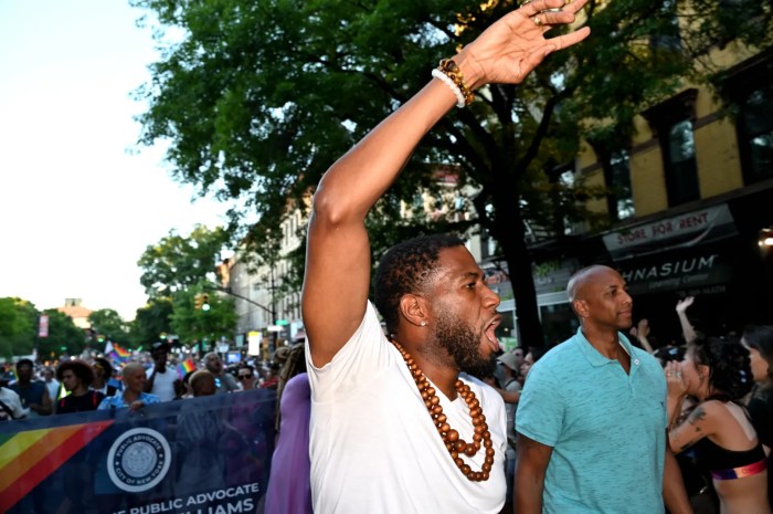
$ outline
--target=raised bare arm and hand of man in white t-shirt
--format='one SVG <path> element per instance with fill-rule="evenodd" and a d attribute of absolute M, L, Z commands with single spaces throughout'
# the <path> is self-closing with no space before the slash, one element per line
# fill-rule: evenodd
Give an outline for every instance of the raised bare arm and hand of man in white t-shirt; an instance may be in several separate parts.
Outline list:
<path fill-rule="evenodd" d="M 509 12 L 453 56 L 466 86 L 517 84 L 555 50 L 582 41 L 580 29 L 544 39 L 551 25 L 571 23 L 586 0 L 534 0 Z M 548 9 L 559 11 L 543 12 Z M 309 220 L 301 305 L 315 366 L 329 363 L 359 326 L 370 284 L 370 244 L 364 219 L 395 180 L 432 127 L 456 104 L 441 80 L 432 80 L 381 122 L 325 174 Z"/>

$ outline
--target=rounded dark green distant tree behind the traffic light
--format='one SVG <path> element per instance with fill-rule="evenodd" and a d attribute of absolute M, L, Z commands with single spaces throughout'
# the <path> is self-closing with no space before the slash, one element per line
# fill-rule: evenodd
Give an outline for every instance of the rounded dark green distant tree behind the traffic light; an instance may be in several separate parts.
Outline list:
<path fill-rule="evenodd" d="M 199 294 L 207 294 L 209 310 L 195 308 Z M 170 319 L 171 329 L 189 346 L 201 340 L 211 345 L 221 337 L 230 339 L 236 328 L 233 300 L 209 292 L 205 283 L 174 296 Z"/>

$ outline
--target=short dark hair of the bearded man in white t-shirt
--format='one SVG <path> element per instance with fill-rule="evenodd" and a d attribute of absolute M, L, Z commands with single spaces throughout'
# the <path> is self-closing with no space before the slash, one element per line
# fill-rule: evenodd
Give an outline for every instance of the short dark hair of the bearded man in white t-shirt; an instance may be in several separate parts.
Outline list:
<path fill-rule="evenodd" d="M 456 234 L 420 235 L 384 253 L 375 272 L 374 304 L 390 333 L 400 322 L 400 298 L 420 293 L 435 276 L 441 250 L 464 246 Z"/>

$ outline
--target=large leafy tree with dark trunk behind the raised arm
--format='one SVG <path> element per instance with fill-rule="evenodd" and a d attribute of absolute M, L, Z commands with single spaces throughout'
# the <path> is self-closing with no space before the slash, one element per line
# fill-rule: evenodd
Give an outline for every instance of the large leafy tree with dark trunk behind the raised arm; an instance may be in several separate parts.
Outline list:
<path fill-rule="evenodd" d="M 433 63 L 516 7 L 497 0 L 133 3 L 153 12 L 160 38 L 169 28 L 184 34 L 166 44 L 151 84 L 138 91 L 149 102 L 139 117 L 140 144 L 169 140 L 178 180 L 202 195 L 239 199 L 234 223 L 256 213 L 260 222 L 247 229 L 257 248 L 280 233 L 288 201 L 303 204 L 336 158 L 427 81 Z M 498 242 L 517 284 L 521 337 L 541 342 L 525 222 L 559 229 L 561 239 L 564 219 L 585 214 L 587 195 L 576 187 L 549 193 L 561 188 L 550 172 L 571 162 L 581 134 L 597 147 L 625 145 L 635 114 L 673 94 L 682 77 L 710 78 L 717 71 L 710 51 L 741 27 L 745 42 L 770 46 L 769 3 L 727 6 L 591 0 L 585 43 L 551 55 L 523 84 L 477 92 L 477 102 L 425 138 L 375 209 L 377 224 L 390 230 L 384 239 L 394 242 L 406 228 L 396 200 L 432 186 L 436 165 L 458 167 L 460 180 L 478 188 L 477 221 Z"/>

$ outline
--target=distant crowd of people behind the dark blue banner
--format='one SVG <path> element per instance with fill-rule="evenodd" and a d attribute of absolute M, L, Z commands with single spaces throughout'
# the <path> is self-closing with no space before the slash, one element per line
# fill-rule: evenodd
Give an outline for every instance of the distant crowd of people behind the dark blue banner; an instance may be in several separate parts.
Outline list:
<path fill-rule="evenodd" d="M 150 352 L 129 360 L 97 354 L 38 365 L 22 358 L 0 369 L 0 419 L 98 409 L 136 410 L 145 405 L 192 398 L 197 395 L 191 380 L 197 376 L 211 377 L 215 394 L 276 389 L 288 350 L 289 346 L 284 346 L 272 359 L 245 358 L 230 366 L 223 364 L 219 354 L 209 353 L 193 364 L 194 369 L 184 373 L 179 366 L 183 359 L 167 342 L 153 343 Z"/>

